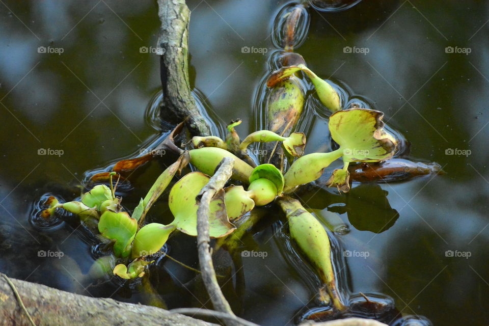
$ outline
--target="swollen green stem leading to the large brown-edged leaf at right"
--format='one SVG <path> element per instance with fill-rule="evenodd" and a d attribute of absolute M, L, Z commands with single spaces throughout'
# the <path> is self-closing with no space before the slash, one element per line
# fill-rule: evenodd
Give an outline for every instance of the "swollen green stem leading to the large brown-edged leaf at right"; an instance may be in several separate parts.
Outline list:
<path fill-rule="evenodd" d="M 285 173 L 284 193 L 290 193 L 296 186 L 317 180 L 333 161 L 343 155 L 339 148 L 329 153 L 312 153 L 295 160 Z"/>

